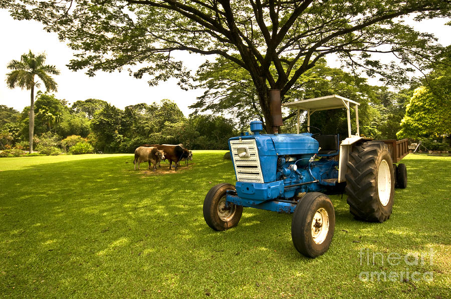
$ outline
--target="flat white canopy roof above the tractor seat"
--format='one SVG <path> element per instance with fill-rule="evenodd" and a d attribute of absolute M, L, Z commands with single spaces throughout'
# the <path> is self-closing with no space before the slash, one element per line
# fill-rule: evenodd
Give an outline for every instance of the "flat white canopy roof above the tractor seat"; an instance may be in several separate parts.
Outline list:
<path fill-rule="evenodd" d="M 360 105 L 359 103 L 346 99 L 344 97 L 338 95 L 331 95 L 320 98 L 285 103 L 283 104 L 283 106 L 302 110 L 319 111 L 339 108 L 349 109 L 348 106 L 349 104 Z"/>

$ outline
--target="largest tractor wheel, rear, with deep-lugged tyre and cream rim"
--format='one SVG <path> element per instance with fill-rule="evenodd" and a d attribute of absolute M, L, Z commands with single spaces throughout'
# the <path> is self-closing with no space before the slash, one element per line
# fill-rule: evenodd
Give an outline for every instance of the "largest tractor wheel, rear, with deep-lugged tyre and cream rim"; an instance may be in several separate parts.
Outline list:
<path fill-rule="evenodd" d="M 370 222 L 387 220 L 393 207 L 395 183 L 388 147 L 381 141 L 354 145 L 347 166 L 346 193 L 351 214 Z"/>

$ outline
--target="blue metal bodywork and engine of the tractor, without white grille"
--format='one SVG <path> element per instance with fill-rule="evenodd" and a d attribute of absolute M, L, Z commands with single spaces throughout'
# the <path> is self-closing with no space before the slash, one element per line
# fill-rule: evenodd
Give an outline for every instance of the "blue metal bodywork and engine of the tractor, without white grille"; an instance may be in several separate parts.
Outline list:
<path fill-rule="evenodd" d="M 240 181 L 237 175 L 237 191 L 228 192 L 227 202 L 290 213 L 296 208 L 298 193 L 324 192 L 335 185 L 336 180 L 330 179 L 338 178 L 338 162 L 316 156 L 318 141 L 312 134 L 260 134 L 262 129 L 260 121 L 252 122 L 253 135 L 229 139 L 235 169 L 235 159 L 240 158 L 232 151 L 231 141 L 255 140 L 264 182 Z"/>

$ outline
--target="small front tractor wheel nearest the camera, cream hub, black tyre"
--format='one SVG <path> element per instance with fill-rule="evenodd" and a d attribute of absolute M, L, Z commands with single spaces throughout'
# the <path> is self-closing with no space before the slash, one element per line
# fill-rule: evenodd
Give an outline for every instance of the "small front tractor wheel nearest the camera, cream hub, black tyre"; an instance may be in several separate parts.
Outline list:
<path fill-rule="evenodd" d="M 312 192 L 299 200 L 291 222 L 291 238 L 300 253 L 317 257 L 326 252 L 334 228 L 334 206 L 327 195 Z"/>

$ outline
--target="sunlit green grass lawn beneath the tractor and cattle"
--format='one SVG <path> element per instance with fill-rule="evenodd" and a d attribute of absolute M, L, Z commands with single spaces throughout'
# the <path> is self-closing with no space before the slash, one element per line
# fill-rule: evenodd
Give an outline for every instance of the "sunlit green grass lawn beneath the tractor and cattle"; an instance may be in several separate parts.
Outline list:
<path fill-rule="evenodd" d="M 233 229 L 206 225 L 205 194 L 235 183 L 223 154 L 194 151 L 188 167 L 156 173 L 134 171 L 132 155 L 0 159 L 0 297 L 449 297 L 450 157 L 403 159 L 408 186 L 385 223 L 331 196 L 334 238 L 311 259 L 292 244 L 290 214 L 245 208 Z"/>

